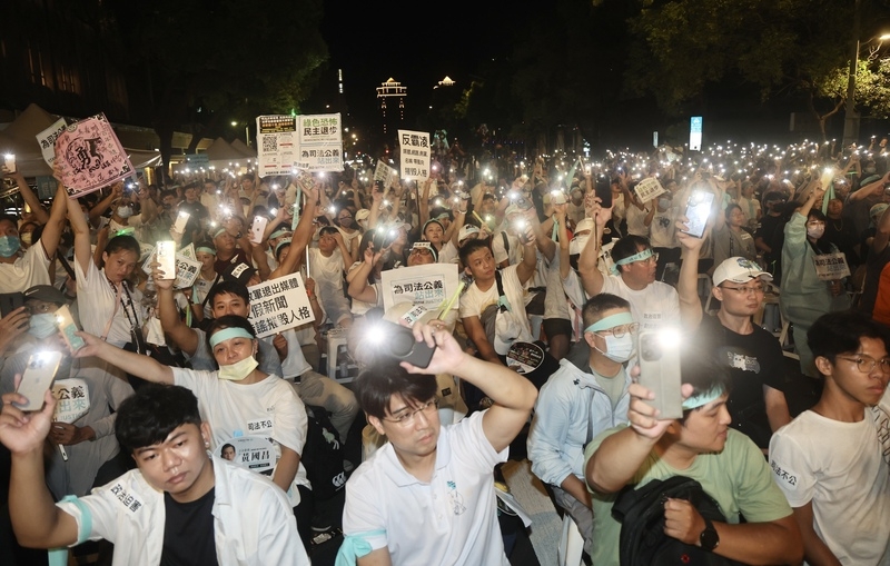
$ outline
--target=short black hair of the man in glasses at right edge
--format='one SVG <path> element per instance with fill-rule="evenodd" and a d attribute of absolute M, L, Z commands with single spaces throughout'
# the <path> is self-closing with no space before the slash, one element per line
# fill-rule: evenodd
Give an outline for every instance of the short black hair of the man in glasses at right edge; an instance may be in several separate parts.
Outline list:
<path fill-rule="evenodd" d="M 857 311 L 828 312 L 807 330 L 807 345 L 813 358 L 821 356 L 832 364 L 838 355 L 857 351 L 860 338 L 877 338 L 884 347 L 888 344 L 887 329 Z"/>

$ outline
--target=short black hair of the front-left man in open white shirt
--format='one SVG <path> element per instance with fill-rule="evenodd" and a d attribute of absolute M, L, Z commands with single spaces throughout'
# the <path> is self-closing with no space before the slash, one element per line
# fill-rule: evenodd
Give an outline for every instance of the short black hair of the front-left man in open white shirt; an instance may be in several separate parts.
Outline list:
<path fill-rule="evenodd" d="M 121 449 L 132 454 L 162 443 L 182 425 L 201 425 L 195 394 L 178 385 L 148 384 L 118 407 L 115 436 Z"/>

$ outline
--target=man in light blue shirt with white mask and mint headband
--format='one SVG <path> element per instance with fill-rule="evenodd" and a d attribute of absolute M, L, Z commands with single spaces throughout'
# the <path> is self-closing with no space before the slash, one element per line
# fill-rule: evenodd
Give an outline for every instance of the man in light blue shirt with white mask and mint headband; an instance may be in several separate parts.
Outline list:
<path fill-rule="evenodd" d="M 593 536 L 591 495 L 584 485 L 584 446 L 596 435 L 627 418 L 625 363 L 631 358 L 640 325 L 631 305 L 602 292 L 584 306 L 586 364 L 567 359 L 541 388 L 528 433 L 532 473 L 553 489 L 553 498 L 578 526 L 584 550 Z"/>

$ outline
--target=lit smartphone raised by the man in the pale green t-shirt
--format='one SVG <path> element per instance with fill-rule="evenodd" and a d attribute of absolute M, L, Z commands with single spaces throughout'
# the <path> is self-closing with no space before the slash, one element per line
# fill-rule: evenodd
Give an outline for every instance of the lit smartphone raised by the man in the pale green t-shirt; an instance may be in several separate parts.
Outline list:
<path fill-rule="evenodd" d="M 640 377 L 636 381 L 655 394 L 646 405 L 659 409 L 659 418 L 681 418 L 680 332 L 673 328 L 641 330 L 636 338 Z"/>

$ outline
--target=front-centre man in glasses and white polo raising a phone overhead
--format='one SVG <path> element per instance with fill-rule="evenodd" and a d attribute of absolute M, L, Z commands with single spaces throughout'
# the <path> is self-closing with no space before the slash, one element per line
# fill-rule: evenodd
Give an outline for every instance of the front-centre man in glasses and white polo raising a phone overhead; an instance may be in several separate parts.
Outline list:
<path fill-rule="evenodd" d="M 534 407 L 534 385 L 500 364 L 464 352 L 445 322 L 417 322 L 414 338 L 435 347 L 425 368 L 370 364 L 355 380 L 358 403 L 389 440 L 346 484 L 338 563 L 507 566 L 493 469 Z M 442 426 L 436 374 L 488 396 L 490 408 Z"/>

